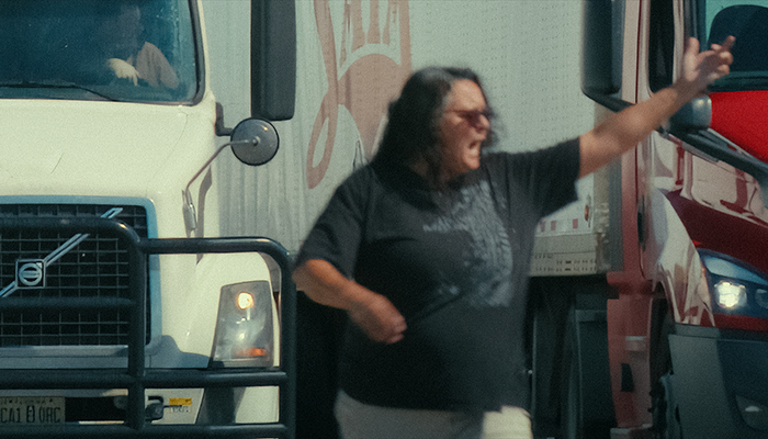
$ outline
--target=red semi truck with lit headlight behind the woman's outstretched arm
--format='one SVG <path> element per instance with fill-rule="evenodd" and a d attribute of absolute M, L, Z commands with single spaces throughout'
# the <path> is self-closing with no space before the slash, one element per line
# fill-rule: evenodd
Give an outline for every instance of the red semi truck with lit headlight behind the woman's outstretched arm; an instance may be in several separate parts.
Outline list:
<path fill-rule="evenodd" d="M 688 37 L 736 43 L 727 77 L 596 176 L 587 269 L 575 244 L 552 244 L 574 236 L 541 233 L 533 288 L 554 294 L 533 304 L 533 362 L 572 361 L 560 391 L 534 368 L 539 432 L 768 437 L 768 1 L 588 0 L 583 12 L 597 119 L 671 85 Z M 562 291 L 574 294 L 557 314 Z M 571 324 L 553 350 L 539 340 L 558 315 Z"/>

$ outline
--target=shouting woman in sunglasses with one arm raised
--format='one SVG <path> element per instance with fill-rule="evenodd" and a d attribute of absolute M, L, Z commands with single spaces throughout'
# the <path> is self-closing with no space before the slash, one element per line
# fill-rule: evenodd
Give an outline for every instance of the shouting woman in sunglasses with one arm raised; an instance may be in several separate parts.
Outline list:
<path fill-rule="evenodd" d="M 312 300 L 346 309 L 336 414 L 345 439 L 530 438 L 527 274 L 539 221 L 727 74 L 733 38 L 691 41 L 670 88 L 592 131 L 483 154 L 493 111 L 468 69 L 415 72 L 379 153 L 336 191 L 296 260 Z"/>

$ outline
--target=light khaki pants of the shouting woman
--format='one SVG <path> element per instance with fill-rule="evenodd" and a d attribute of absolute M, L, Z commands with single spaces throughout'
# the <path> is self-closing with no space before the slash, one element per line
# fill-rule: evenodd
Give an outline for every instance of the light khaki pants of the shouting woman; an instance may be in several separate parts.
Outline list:
<path fill-rule="evenodd" d="M 417 410 L 363 404 L 345 392 L 336 399 L 342 439 L 532 439 L 531 419 L 519 407 L 501 412 Z"/>

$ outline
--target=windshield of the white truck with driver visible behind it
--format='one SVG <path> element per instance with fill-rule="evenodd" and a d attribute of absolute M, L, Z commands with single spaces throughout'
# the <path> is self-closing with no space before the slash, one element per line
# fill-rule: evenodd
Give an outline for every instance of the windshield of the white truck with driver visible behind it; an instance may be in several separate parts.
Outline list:
<path fill-rule="evenodd" d="M 187 0 L 0 0 L 0 98 L 184 102 Z"/>

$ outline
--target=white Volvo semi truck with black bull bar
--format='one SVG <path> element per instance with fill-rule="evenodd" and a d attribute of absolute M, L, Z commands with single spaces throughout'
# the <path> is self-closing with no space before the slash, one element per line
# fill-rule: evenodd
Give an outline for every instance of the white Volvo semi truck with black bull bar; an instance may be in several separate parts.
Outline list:
<path fill-rule="evenodd" d="M 290 119 L 294 5 L 252 8 Z M 214 177 L 279 139 L 221 123 L 200 3 L 3 0 L 0 40 L 0 437 L 293 437 L 287 252 L 222 237 Z"/>

